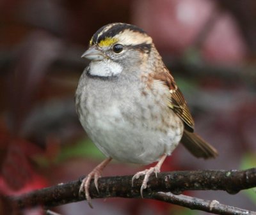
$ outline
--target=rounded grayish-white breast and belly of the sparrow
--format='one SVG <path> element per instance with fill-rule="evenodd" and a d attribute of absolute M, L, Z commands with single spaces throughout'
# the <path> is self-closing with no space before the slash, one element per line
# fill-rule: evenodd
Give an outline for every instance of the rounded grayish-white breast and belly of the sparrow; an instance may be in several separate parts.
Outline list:
<path fill-rule="evenodd" d="M 154 94 L 142 93 L 143 87 L 138 80 L 129 82 L 122 77 L 85 75 L 79 81 L 79 120 L 106 156 L 129 163 L 152 163 L 178 144 L 183 131 L 177 127 L 177 122 L 182 123 L 179 117 L 156 103 Z M 163 127 L 165 120 L 170 124 Z"/>

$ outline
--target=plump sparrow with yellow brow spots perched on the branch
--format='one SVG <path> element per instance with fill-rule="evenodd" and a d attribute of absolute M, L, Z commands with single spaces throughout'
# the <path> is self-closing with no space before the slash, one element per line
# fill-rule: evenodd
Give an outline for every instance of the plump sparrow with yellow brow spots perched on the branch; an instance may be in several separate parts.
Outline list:
<path fill-rule="evenodd" d="M 76 89 L 75 103 L 84 130 L 106 156 L 82 181 L 89 205 L 90 181 L 98 179 L 112 159 L 156 166 L 137 172 L 147 188 L 167 156 L 181 142 L 197 158 L 216 158 L 218 151 L 194 133 L 186 100 L 163 63 L 152 38 L 140 27 L 115 22 L 93 34 L 81 56 L 90 63 Z"/>

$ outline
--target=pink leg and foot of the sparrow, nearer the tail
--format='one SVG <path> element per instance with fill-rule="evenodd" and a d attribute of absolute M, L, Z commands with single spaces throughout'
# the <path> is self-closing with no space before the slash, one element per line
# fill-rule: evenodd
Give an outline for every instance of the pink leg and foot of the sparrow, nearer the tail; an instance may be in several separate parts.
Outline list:
<path fill-rule="evenodd" d="M 141 171 L 141 172 L 137 172 L 133 177 L 132 177 L 132 186 L 133 186 L 133 181 L 134 179 L 138 179 L 141 175 L 145 175 L 141 188 L 140 188 L 140 195 L 141 198 L 143 198 L 143 189 L 147 188 L 147 182 L 148 182 L 148 178 L 150 177 L 150 175 L 155 172 L 156 177 L 157 177 L 157 173 L 160 172 L 160 168 L 163 165 L 164 159 L 166 159 L 167 155 L 164 154 L 163 156 L 161 156 L 161 158 L 159 159 L 157 165 L 155 167 L 150 167 L 147 170 Z"/>

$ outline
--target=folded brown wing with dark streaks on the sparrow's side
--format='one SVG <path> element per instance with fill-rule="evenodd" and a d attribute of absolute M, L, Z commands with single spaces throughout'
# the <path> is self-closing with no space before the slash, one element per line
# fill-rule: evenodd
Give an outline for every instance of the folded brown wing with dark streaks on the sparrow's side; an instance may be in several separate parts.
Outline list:
<path fill-rule="evenodd" d="M 154 75 L 154 78 L 161 80 L 166 84 L 170 89 L 170 102 L 168 107 L 172 108 L 175 114 L 179 115 L 180 119 L 185 123 L 186 130 L 193 132 L 194 131 L 194 121 L 189 112 L 188 105 L 184 99 L 183 94 L 181 93 L 179 87 L 177 87 L 170 71 L 165 68 L 164 71 Z"/>

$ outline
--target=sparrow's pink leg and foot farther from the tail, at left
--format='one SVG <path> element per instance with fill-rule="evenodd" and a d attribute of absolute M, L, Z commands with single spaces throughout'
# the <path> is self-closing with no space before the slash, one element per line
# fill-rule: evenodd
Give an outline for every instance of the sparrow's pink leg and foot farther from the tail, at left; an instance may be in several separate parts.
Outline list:
<path fill-rule="evenodd" d="M 108 163 L 111 161 L 111 159 L 112 158 L 104 159 L 104 161 L 102 161 L 99 165 L 97 165 L 97 167 L 93 168 L 92 172 L 90 172 L 90 174 L 88 174 L 83 179 L 83 181 L 81 183 L 81 186 L 79 189 L 79 195 L 81 195 L 81 193 L 83 193 L 83 191 L 84 191 L 85 198 L 86 198 L 88 204 L 90 205 L 90 207 L 92 207 L 92 198 L 89 193 L 90 181 L 92 178 L 94 178 L 94 184 L 99 193 L 98 179 L 99 179 L 99 177 L 101 177 L 102 170 L 106 167 L 106 165 L 108 165 Z"/>

